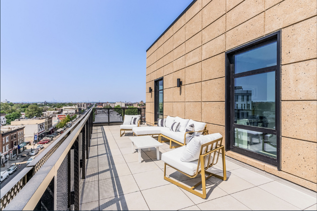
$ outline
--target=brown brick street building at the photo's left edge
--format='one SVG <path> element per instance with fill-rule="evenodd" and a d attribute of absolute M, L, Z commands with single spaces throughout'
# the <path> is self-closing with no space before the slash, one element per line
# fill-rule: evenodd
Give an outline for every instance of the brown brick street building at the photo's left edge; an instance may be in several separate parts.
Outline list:
<path fill-rule="evenodd" d="M 1 129 L 1 165 L 23 151 L 24 126 L 2 126 Z"/>

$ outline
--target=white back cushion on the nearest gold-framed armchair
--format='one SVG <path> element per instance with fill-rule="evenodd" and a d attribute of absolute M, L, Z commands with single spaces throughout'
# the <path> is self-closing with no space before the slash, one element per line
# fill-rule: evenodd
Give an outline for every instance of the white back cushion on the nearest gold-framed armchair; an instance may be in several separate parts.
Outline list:
<path fill-rule="evenodd" d="M 190 162 L 199 158 L 200 147 L 202 144 L 220 139 L 222 136 L 220 133 L 213 133 L 206 136 L 193 137 L 186 145 L 184 151 L 180 156 L 180 160 L 183 162 Z M 215 146 L 213 146 L 215 147 Z"/>

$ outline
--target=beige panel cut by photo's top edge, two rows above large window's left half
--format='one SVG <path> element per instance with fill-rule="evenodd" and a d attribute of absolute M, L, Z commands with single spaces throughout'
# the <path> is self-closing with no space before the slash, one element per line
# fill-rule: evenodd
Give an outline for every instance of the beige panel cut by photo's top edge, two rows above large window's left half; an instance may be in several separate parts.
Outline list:
<path fill-rule="evenodd" d="M 227 13 L 227 31 L 264 11 L 264 0 L 245 0 Z"/>

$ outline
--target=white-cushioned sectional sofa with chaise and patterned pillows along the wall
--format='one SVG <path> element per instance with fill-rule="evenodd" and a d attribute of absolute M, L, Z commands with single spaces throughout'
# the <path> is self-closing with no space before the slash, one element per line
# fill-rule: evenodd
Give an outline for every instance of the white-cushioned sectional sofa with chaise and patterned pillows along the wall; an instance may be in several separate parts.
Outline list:
<path fill-rule="evenodd" d="M 208 130 L 206 130 L 206 123 L 197 122 L 194 120 L 183 119 L 180 117 L 170 117 L 167 116 L 166 119 L 160 120 L 160 124 L 154 124 L 149 127 L 133 127 L 133 136 L 147 136 L 147 135 L 158 135 L 158 141 L 162 142 L 162 137 L 166 138 L 170 142 L 170 148 L 176 148 L 179 146 L 184 146 L 189 141 L 190 137 L 186 138 L 187 133 L 193 133 L 192 136 L 196 135 L 207 135 Z M 179 122 L 179 128 L 176 132 L 171 130 L 171 125 L 174 122 Z M 156 122 L 157 123 L 157 122 Z M 195 131 L 186 132 L 186 128 L 189 125 L 194 124 Z M 163 141 L 165 142 L 165 141 Z M 179 146 L 172 146 L 172 142 L 177 143 Z"/>

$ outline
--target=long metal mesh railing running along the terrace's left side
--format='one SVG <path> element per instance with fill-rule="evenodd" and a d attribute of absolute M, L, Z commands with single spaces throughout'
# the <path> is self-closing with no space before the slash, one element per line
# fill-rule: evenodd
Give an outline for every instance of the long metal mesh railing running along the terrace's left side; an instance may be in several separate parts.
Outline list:
<path fill-rule="evenodd" d="M 0 210 L 79 210 L 93 109 L 1 189 Z"/>

